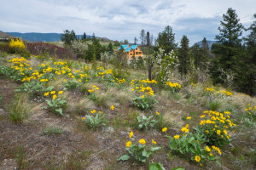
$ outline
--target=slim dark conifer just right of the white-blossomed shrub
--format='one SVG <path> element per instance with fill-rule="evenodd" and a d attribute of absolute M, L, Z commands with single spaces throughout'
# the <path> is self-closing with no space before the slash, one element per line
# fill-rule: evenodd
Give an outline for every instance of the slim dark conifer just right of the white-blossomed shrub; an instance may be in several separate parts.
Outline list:
<path fill-rule="evenodd" d="M 190 57 L 189 57 L 189 39 L 183 36 L 180 42 L 180 48 L 178 49 L 177 58 L 179 60 L 178 71 L 182 75 L 189 73 Z"/>

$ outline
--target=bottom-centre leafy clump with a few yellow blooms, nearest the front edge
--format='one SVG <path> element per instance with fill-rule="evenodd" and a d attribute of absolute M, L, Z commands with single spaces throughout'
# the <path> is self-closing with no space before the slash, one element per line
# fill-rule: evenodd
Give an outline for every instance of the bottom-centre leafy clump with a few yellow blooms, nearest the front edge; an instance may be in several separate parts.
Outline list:
<path fill-rule="evenodd" d="M 130 133 L 130 137 L 132 134 Z M 145 139 L 140 139 L 139 144 L 134 144 L 129 140 L 126 143 L 126 150 L 128 153 L 123 156 L 119 156 L 117 161 L 127 161 L 130 158 L 133 158 L 136 161 L 143 163 L 146 162 L 148 157 L 151 156 L 154 151 L 161 149 L 161 147 L 156 146 L 156 142 L 154 140 L 152 140 L 152 142 L 154 143 L 153 146 L 147 146 Z"/>

